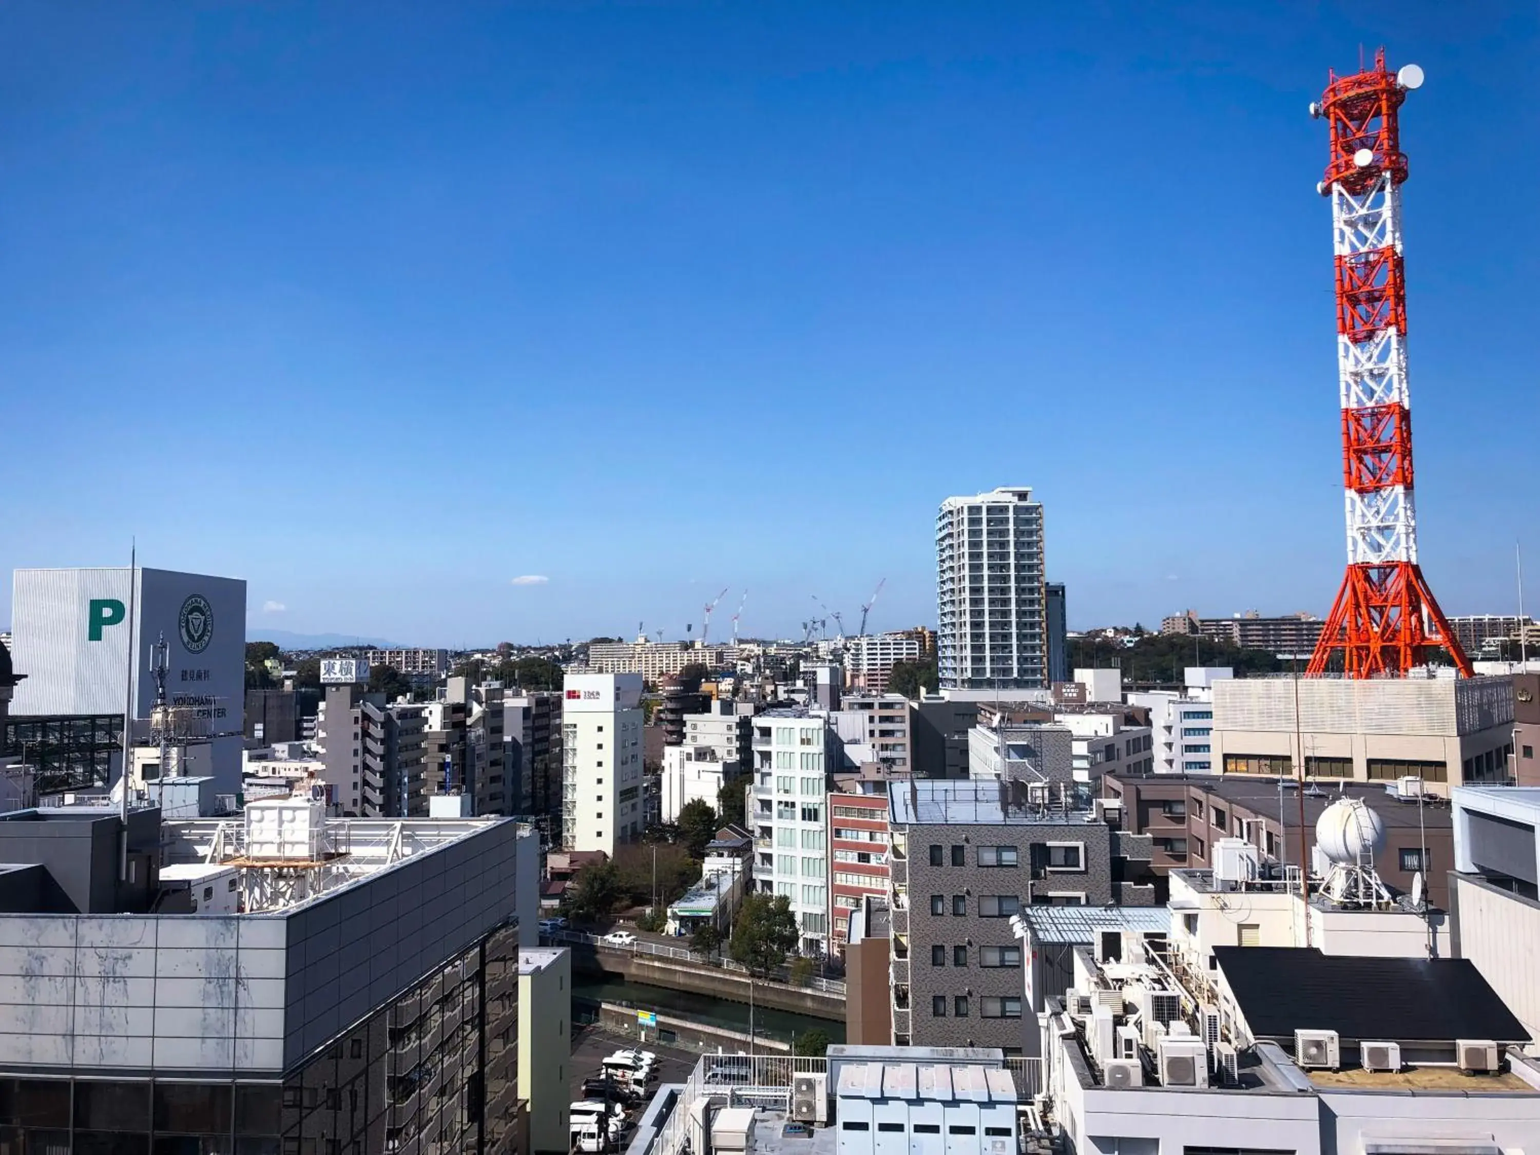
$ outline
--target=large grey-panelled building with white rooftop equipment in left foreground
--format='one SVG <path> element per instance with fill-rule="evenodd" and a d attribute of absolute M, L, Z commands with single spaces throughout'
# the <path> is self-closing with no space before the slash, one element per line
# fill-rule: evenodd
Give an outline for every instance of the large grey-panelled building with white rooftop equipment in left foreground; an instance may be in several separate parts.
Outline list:
<path fill-rule="evenodd" d="M 517 1150 L 508 819 L 0 816 L 0 1150 Z"/>

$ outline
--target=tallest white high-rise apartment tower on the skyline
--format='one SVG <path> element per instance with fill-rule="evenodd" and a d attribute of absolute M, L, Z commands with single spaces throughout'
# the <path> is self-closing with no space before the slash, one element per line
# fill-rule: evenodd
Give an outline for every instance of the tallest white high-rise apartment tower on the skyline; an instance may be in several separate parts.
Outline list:
<path fill-rule="evenodd" d="M 1047 685 L 1043 502 L 1007 487 L 936 516 L 936 658 L 950 690 Z"/>

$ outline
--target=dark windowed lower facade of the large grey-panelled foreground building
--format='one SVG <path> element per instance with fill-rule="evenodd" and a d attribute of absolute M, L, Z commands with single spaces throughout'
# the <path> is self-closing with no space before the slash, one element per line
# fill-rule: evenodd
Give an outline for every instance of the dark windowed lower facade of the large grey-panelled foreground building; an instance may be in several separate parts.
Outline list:
<path fill-rule="evenodd" d="M 0 1066 L 0 1155 L 522 1155 L 517 1035 L 517 926 L 505 924 L 282 1080 Z"/>

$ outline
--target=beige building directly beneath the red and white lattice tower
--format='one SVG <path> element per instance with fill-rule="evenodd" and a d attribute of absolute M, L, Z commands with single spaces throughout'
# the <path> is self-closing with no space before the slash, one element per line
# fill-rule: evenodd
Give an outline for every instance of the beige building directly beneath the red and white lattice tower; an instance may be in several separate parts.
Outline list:
<path fill-rule="evenodd" d="M 1238 678 L 1214 684 L 1209 738 L 1227 775 L 1287 776 L 1303 753 L 1312 778 L 1412 776 L 1448 795 L 1505 782 L 1512 730 L 1511 678 Z"/>

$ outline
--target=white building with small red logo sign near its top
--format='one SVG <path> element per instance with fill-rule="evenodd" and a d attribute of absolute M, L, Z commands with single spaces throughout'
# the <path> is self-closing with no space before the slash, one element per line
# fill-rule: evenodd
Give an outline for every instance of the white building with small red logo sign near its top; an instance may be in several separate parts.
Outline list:
<path fill-rule="evenodd" d="M 562 845 L 602 850 L 641 836 L 642 676 L 562 682 Z"/>

